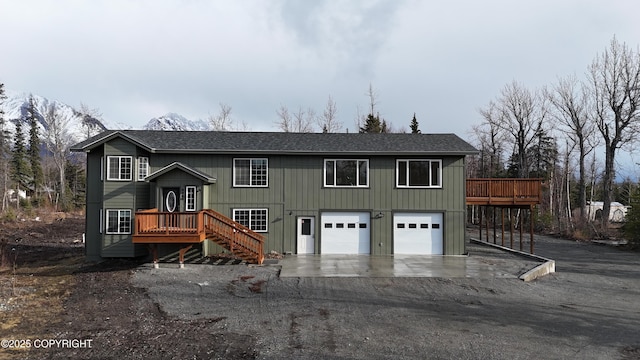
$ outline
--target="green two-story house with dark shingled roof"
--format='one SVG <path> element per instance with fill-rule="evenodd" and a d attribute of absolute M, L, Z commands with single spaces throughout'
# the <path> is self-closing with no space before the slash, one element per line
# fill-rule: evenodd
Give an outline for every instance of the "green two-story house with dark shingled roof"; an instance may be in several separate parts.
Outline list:
<path fill-rule="evenodd" d="M 72 151 L 87 154 L 90 259 L 145 255 L 180 241 L 153 231 L 184 226 L 215 254 L 228 248 L 216 232 L 235 224 L 251 231 L 229 234 L 262 235 L 264 253 L 465 253 L 477 150 L 454 134 L 111 130 Z"/>

